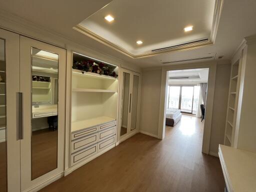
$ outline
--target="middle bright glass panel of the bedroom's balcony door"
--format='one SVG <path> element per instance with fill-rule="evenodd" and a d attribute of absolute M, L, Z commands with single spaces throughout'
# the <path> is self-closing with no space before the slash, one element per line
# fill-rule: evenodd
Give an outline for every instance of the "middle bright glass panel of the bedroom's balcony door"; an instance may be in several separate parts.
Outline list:
<path fill-rule="evenodd" d="M 181 103 L 180 110 L 182 112 L 192 112 L 193 103 L 193 86 L 182 86 L 181 87 Z"/>

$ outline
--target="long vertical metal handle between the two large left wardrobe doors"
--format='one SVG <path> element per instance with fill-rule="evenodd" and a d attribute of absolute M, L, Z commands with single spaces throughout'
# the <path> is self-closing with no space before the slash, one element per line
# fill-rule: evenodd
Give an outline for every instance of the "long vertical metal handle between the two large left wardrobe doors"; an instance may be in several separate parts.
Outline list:
<path fill-rule="evenodd" d="M 17 92 L 16 94 L 16 104 L 17 104 L 17 139 L 23 139 L 23 94 L 22 92 Z"/>

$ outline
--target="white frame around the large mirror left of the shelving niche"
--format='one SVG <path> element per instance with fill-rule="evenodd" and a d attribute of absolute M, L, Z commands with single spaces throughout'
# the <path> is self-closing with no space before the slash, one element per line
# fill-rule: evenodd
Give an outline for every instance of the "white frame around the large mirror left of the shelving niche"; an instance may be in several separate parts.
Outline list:
<path fill-rule="evenodd" d="M 58 140 L 57 140 L 57 168 L 31 180 L 31 47 L 58 54 Z M 22 56 L 27 55 L 29 56 Z M 20 92 L 23 92 L 23 139 L 20 141 L 20 175 L 21 191 L 36 190 L 43 187 L 49 180 L 57 179 L 64 171 L 64 133 L 65 133 L 65 74 L 66 50 L 45 42 L 20 35 Z M 29 63 L 29 65 L 27 64 Z M 23 83 L 22 83 L 23 81 Z"/>

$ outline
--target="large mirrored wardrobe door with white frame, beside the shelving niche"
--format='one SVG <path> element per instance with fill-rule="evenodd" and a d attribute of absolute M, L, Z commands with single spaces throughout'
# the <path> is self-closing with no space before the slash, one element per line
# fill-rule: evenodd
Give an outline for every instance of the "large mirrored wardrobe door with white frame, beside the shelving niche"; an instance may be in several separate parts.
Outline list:
<path fill-rule="evenodd" d="M 65 50 L 20 36 L 21 190 L 64 168 Z"/>

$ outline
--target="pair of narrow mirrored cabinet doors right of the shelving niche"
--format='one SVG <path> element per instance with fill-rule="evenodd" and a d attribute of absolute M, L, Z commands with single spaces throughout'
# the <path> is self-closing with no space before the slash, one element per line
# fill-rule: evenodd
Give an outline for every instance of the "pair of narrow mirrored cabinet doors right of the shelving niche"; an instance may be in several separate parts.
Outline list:
<path fill-rule="evenodd" d="M 138 130 L 140 84 L 139 73 L 120 69 L 119 138 Z"/>

